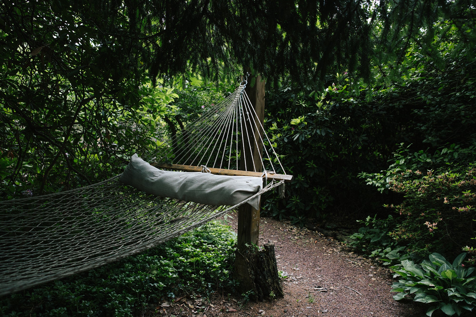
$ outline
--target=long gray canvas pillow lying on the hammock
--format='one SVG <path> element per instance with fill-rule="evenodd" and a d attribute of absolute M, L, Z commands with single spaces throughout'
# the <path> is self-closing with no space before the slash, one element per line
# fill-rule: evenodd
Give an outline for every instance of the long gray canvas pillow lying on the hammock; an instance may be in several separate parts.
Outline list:
<path fill-rule="evenodd" d="M 255 195 L 263 187 L 263 179 L 260 177 L 161 170 L 151 166 L 137 154 L 130 158 L 120 181 L 159 197 L 214 206 L 234 206 Z M 259 199 L 260 196 L 257 196 L 249 200 L 248 204 L 258 209 Z"/>

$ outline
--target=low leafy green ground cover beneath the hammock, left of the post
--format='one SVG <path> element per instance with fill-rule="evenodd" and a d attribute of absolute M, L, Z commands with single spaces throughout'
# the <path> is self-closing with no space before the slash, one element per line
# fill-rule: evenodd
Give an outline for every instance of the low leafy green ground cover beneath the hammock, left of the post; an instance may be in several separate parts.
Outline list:
<path fill-rule="evenodd" d="M 178 294 L 230 282 L 236 234 L 210 222 L 156 248 L 0 298 L 0 316 L 135 316 Z"/>

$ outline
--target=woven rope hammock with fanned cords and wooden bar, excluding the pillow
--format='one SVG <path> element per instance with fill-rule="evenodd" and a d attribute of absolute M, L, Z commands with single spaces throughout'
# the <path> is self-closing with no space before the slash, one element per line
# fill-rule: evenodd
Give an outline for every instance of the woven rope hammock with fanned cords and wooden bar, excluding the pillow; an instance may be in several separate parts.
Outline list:
<path fill-rule="evenodd" d="M 61 193 L 1 201 L 0 296 L 137 254 L 253 203 L 273 188 L 284 191 L 284 181 L 292 176 L 284 172 L 245 85 L 150 154 L 148 168 L 262 177 L 264 186 L 256 193 L 218 206 L 150 195 L 120 182 L 119 175 Z M 262 167 L 270 170 L 262 173 L 256 164 L 238 170 L 240 158 L 246 162 L 251 153 L 247 145 L 258 142 L 264 144 Z"/>

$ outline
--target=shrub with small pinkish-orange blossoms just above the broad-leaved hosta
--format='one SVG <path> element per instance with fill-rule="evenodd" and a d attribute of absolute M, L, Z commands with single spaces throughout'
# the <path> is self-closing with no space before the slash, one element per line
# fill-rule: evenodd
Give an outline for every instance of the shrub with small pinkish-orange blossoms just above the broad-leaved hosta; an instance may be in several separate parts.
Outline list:
<path fill-rule="evenodd" d="M 395 220 L 387 226 L 392 241 L 420 258 L 435 251 L 456 256 L 462 247 L 475 246 L 474 149 L 451 145 L 430 155 L 401 148 L 386 171 L 361 174 L 367 184 L 403 198 L 385 205 L 395 211 Z"/>

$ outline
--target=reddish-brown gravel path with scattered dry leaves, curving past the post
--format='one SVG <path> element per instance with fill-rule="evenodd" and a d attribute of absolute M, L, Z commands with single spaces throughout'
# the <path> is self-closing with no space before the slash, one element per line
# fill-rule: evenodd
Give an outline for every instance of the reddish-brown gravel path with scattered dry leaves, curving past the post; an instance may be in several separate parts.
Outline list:
<path fill-rule="evenodd" d="M 236 231 L 238 217 L 232 216 L 228 224 Z M 287 275 L 282 282 L 283 298 L 243 304 L 226 293 L 183 297 L 175 304 L 164 303 L 170 306 L 157 307 L 156 316 L 425 316 L 417 303 L 392 298 L 393 278 L 388 268 L 378 267 L 334 238 L 286 221 L 261 218 L 259 245 L 268 242 L 275 244 L 278 270 Z"/>

